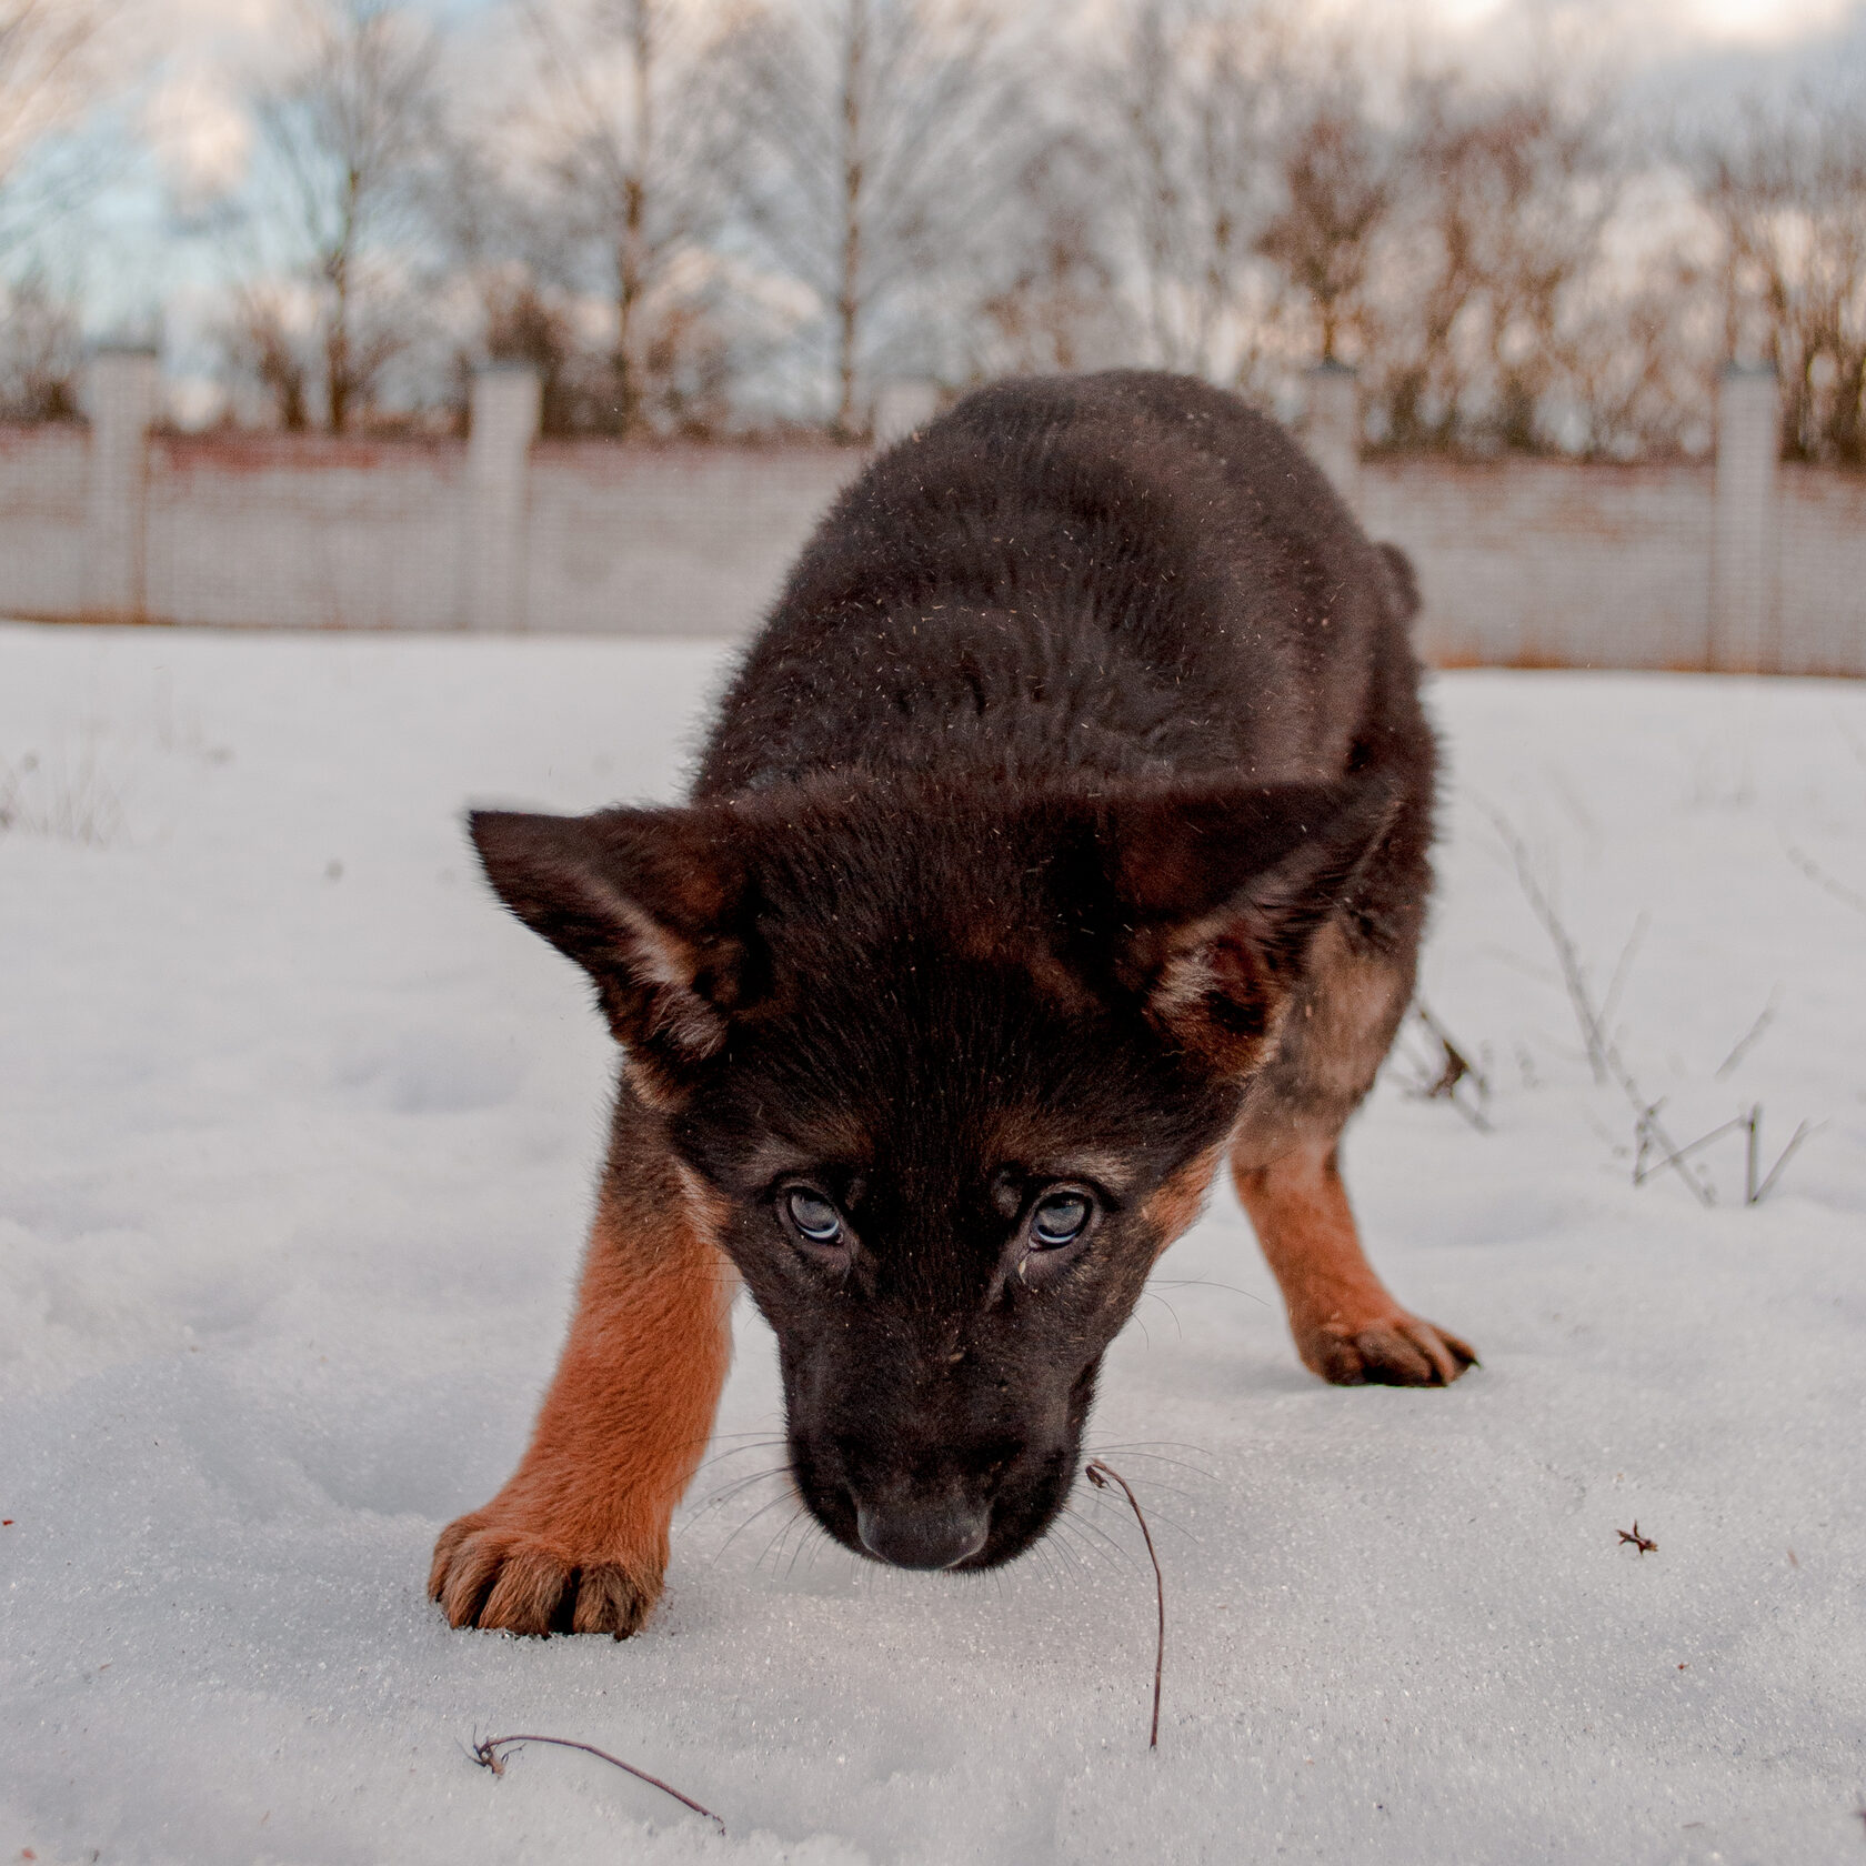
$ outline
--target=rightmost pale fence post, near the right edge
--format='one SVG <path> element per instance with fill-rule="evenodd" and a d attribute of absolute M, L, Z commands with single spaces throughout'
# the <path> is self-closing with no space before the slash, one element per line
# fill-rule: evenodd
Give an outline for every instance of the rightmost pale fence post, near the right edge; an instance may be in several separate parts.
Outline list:
<path fill-rule="evenodd" d="M 1780 394 L 1773 368 L 1730 364 L 1717 384 L 1717 480 L 1711 517 L 1711 638 L 1722 674 L 1780 666 L 1776 457 Z"/>

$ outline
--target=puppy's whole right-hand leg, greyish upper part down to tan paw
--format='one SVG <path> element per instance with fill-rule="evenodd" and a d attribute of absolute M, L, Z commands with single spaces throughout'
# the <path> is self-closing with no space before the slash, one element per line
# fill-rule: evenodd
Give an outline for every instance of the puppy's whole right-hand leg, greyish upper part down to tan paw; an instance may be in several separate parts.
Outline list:
<path fill-rule="evenodd" d="M 1237 1196 L 1282 1286 L 1297 1353 L 1336 1386 L 1448 1386 L 1478 1364 L 1455 1334 L 1394 1301 L 1342 1183 L 1342 1127 L 1409 995 L 1409 968 L 1355 952 L 1330 927 L 1232 1144 Z"/>

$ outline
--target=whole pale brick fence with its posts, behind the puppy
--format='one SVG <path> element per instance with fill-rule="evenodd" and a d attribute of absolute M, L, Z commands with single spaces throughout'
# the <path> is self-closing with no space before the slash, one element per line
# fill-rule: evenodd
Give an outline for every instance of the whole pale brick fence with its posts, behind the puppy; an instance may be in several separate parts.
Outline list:
<path fill-rule="evenodd" d="M 474 383 L 472 439 L 177 435 L 146 351 L 90 427 L 0 427 L 0 614 L 285 629 L 739 634 L 866 455 L 541 440 L 537 381 Z M 1776 384 L 1722 379 L 1715 465 L 1364 457 L 1347 369 L 1306 442 L 1420 575 L 1439 664 L 1866 675 L 1866 478 L 1776 461 Z M 883 439 L 924 422 L 890 384 Z"/>

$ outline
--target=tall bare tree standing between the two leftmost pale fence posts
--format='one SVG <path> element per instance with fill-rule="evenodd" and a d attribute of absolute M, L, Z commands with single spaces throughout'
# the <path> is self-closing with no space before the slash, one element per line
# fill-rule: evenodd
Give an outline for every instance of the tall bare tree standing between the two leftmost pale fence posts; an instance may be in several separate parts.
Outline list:
<path fill-rule="evenodd" d="M 351 427 L 409 341 L 396 284 L 416 237 L 416 174 L 433 144 L 435 41 L 396 0 L 302 0 L 304 50 L 256 106 L 261 239 L 284 276 L 241 295 L 235 347 L 284 425 Z"/>

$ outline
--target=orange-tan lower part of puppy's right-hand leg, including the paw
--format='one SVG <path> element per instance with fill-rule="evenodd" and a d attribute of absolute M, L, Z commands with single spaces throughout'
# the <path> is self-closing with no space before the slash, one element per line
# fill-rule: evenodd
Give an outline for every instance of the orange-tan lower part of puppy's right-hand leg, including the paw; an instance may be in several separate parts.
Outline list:
<path fill-rule="evenodd" d="M 1470 1347 L 1407 1314 L 1373 1274 L 1334 1142 L 1265 1164 L 1233 1155 L 1233 1174 L 1312 1373 L 1336 1386 L 1446 1386 L 1476 1366 Z"/>

